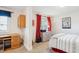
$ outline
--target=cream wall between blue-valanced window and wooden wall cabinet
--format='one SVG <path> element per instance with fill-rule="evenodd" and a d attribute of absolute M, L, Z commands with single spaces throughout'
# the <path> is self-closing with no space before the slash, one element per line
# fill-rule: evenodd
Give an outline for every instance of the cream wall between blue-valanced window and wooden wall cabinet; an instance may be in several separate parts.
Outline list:
<path fill-rule="evenodd" d="M 0 10 L 7 10 L 7 11 L 13 12 L 9 20 L 8 30 L 4 34 L 19 33 L 20 35 L 22 35 L 21 30 L 18 28 L 18 16 L 20 14 L 24 14 L 24 12 L 22 10 L 16 10 L 16 9 L 11 9 L 7 7 L 0 7 Z"/>

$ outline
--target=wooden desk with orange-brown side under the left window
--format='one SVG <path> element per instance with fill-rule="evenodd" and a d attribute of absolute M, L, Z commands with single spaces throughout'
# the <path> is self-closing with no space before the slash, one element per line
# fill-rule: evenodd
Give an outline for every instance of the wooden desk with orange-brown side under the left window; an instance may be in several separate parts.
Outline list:
<path fill-rule="evenodd" d="M 21 46 L 21 38 L 19 34 L 0 35 L 0 52 L 19 48 Z"/>

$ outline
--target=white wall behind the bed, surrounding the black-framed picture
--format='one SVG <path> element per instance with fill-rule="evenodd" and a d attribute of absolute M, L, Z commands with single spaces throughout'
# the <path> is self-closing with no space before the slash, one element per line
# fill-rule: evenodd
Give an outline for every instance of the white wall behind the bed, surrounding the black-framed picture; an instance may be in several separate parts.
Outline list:
<path fill-rule="evenodd" d="M 62 29 L 62 17 L 71 17 L 71 29 Z M 79 11 L 54 17 L 53 33 L 73 33 L 79 35 Z"/>

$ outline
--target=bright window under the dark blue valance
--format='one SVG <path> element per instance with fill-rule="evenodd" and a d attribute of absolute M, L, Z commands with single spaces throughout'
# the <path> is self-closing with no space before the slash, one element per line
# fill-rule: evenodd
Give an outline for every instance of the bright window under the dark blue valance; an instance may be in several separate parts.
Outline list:
<path fill-rule="evenodd" d="M 7 31 L 8 19 L 9 17 L 7 16 L 0 16 L 0 31 Z"/>

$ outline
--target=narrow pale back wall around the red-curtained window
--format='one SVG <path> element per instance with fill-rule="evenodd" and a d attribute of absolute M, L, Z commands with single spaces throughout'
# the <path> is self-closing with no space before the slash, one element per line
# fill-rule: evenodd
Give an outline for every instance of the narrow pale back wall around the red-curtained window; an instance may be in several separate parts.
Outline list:
<path fill-rule="evenodd" d="M 33 9 L 33 11 L 32 11 L 32 15 L 33 15 L 33 20 L 34 20 L 34 27 L 33 27 L 33 42 L 35 42 L 35 40 L 36 40 L 36 26 L 37 26 L 37 24 L 36 24 L 36 22 L 37 22 L 37 20 L 36 20 L 36 14 L 40 14 L 40 15 L 42 15 L 42 16 L 49 16 L 49 15 L 47 15 L 47 14 L 44 14 L 44 13 L 42 13 L 42 12 L 38 12 L 38 11 L 36 11 L 35 9 Z M 52 23 L 52 27 L 53 27 L 53 16 L 51 16 L 51 23 Z M 53 31 L 53 28 L 52 28 L 52 31 Z M 52 32 L 51 31 L 51 32 Z"/>

